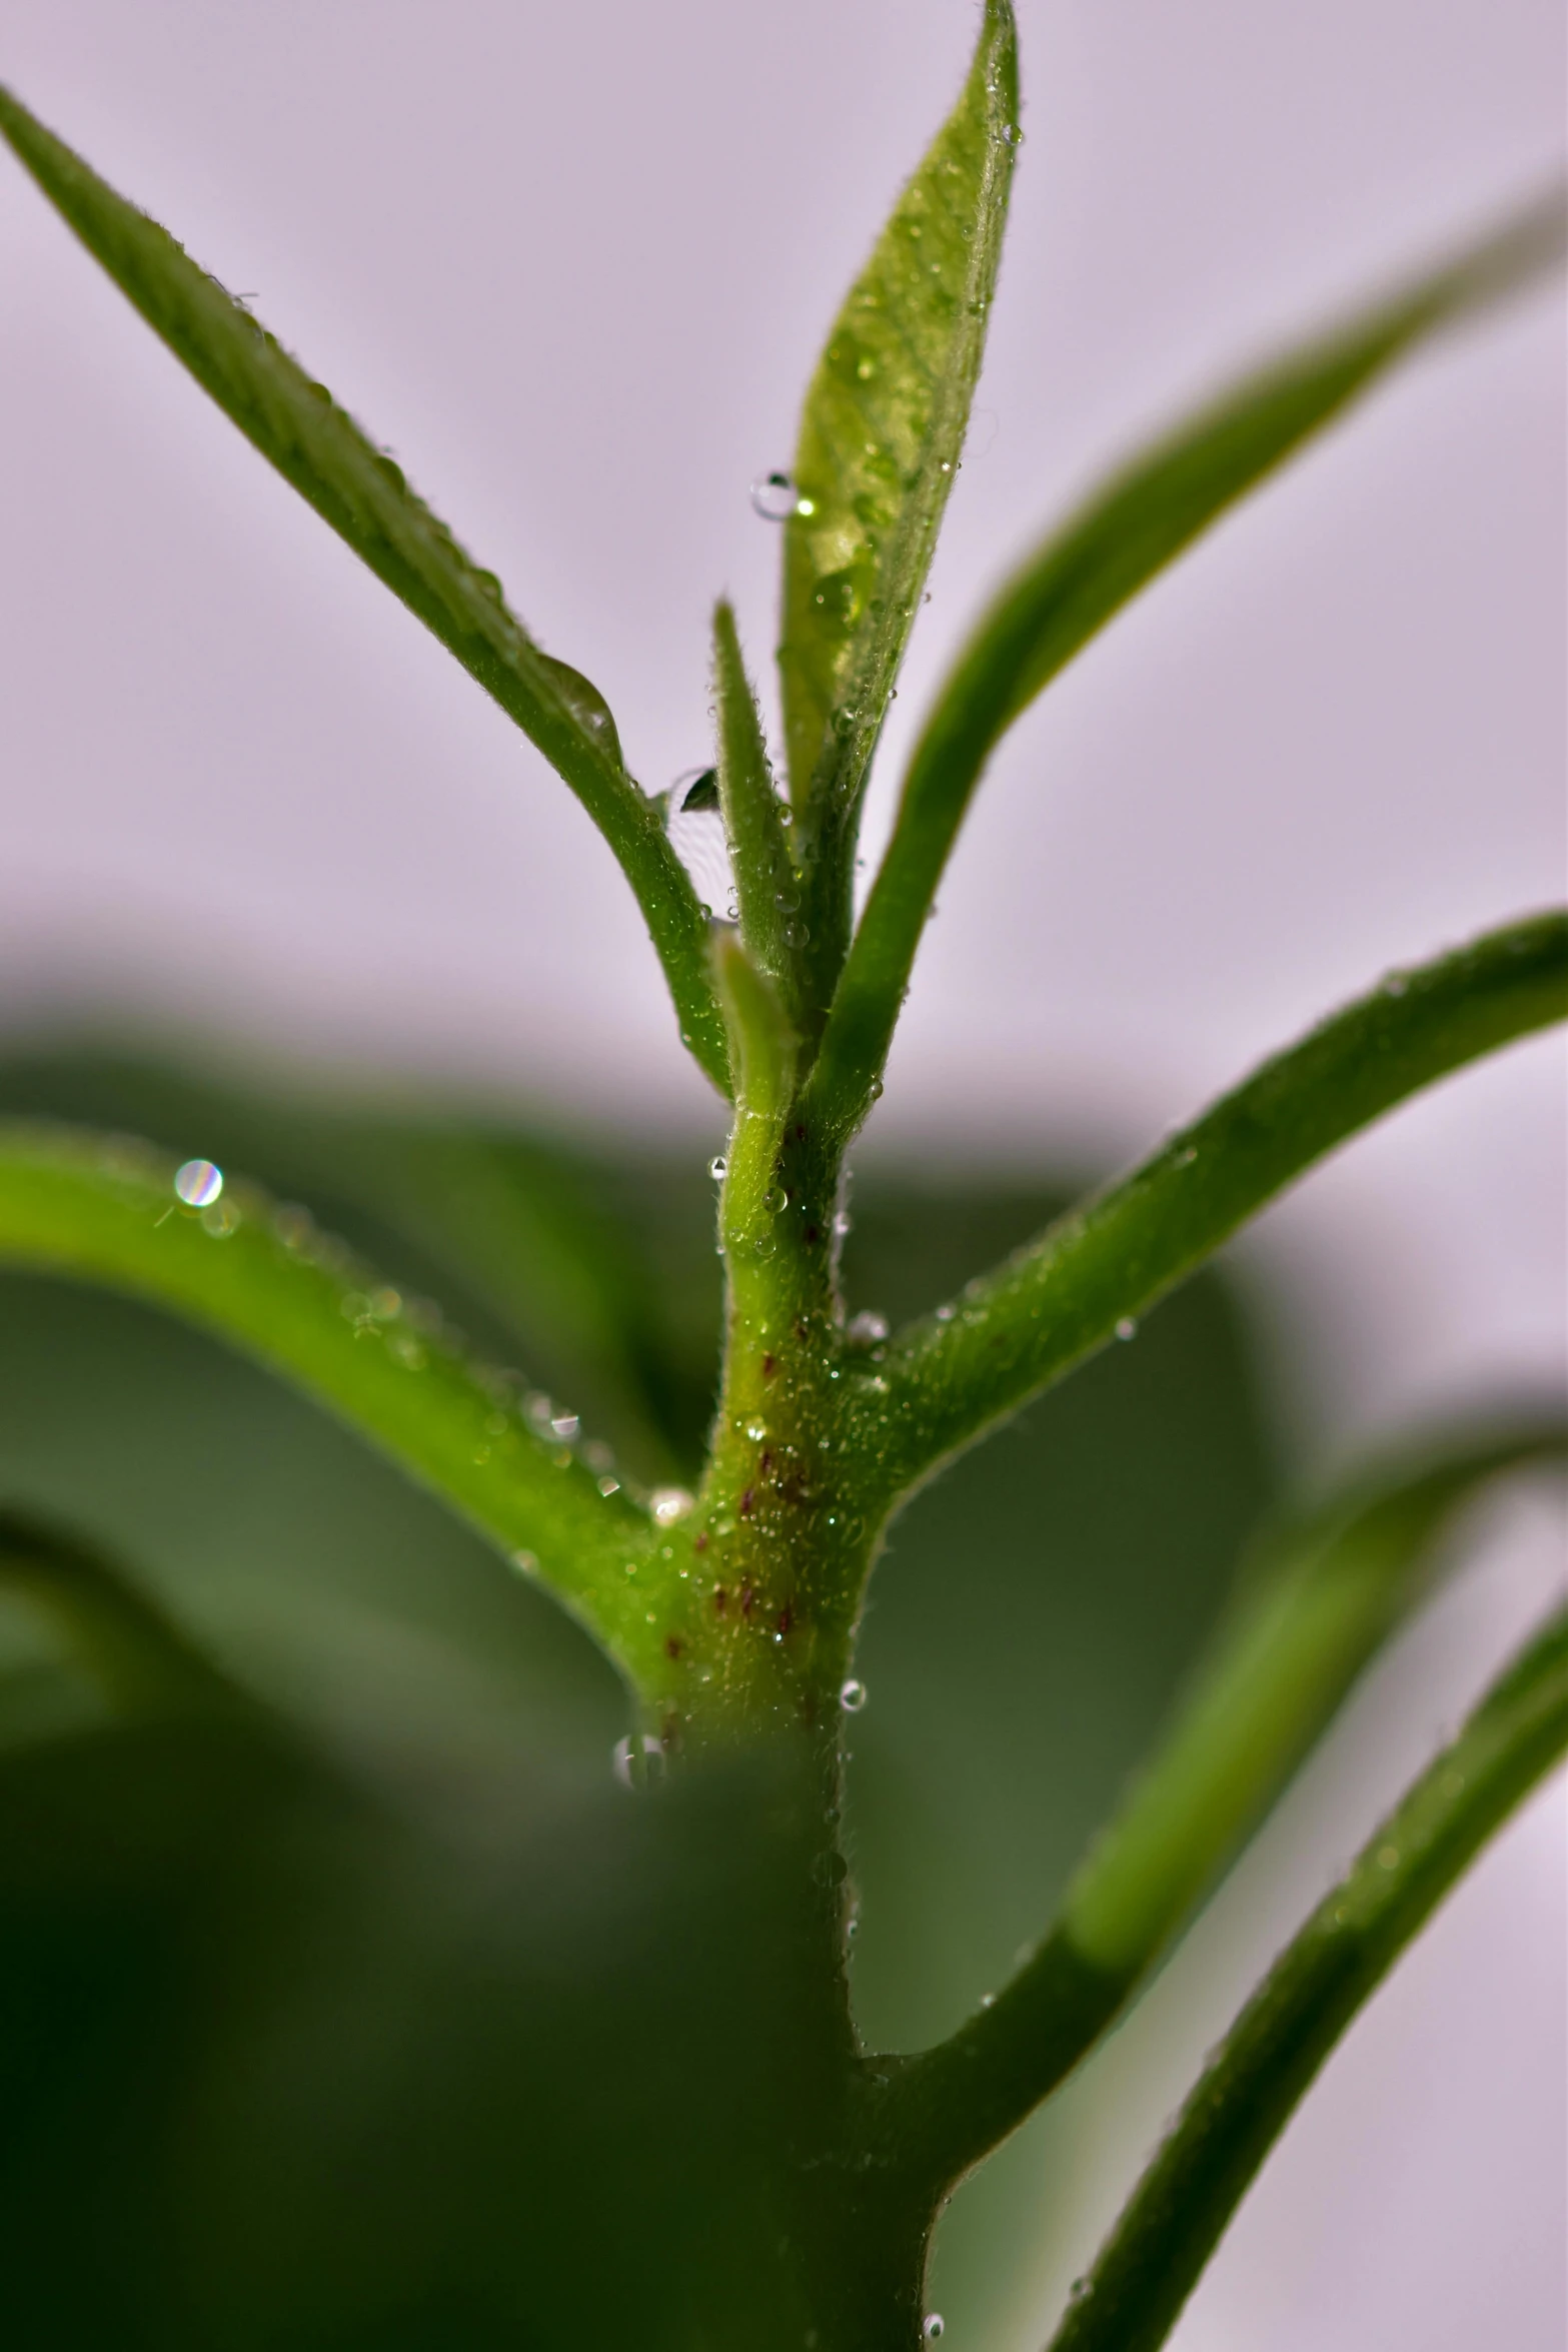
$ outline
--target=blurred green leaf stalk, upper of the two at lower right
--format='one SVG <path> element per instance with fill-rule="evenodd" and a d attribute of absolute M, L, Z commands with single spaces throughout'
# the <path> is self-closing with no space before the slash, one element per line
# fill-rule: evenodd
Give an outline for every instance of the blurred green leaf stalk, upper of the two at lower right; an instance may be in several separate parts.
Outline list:
<path fill-rule="evenodd" d="M 1561 1416 L 1443 1430 L 1262 1538 L 1173 1729 L 1051 1933 L 893 2079 L 882 2133 L 905 2161 L 924 2150 L 931 2180 L 947 2185 L 1056 2089 L 1425 1597 L 1455 1515 L 1490 1479 L 1566 1451 Z"/>

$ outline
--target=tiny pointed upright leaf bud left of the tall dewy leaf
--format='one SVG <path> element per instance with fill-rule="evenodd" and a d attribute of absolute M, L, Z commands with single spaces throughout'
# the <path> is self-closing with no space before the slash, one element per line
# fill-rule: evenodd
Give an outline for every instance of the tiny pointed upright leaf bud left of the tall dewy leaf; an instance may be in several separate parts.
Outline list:
<path fill-rule="evenodd" d="M 785 1004 L 795 1009 L 799 877 L 790 858 L 783 804 L 773 790 L 757 696 L 741 656 L 736 616 L 724 602 L 712 616 L 712 703 L 719 722 L 717 790 L 736 875 L 741 938 L 757 969 L 766 971 Z M 684 804 L 691 807 L 691 793 Z"/>

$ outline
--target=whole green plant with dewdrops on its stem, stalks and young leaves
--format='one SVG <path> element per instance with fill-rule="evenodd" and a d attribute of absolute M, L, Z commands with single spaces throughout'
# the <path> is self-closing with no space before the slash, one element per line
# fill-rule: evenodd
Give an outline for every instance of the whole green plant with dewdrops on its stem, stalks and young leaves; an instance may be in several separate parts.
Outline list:
<path fill-rule="evenodd" d="M 240 2129 L 254 2107 L 240 2103 L 240 2124 L 223 2122 L 223 2093 L 207 2091 L 207 2112 L 223 2110 L 212 2140 L 221 2190 L 176 2166 L 200 2216 L 197 2251 L 179 2249 L 179 2293 L 141 2249 L 115 2274 L 108 2319 L 120 2340 L 616 2343 L 635 2331 L 649 2345 L 914 2345 L 931 2333 L 926 2249 L 954 2183 L 1124 2011 L 1418 1602 L 1458 1508 L 1479 1484 L 1561 1454 L 1561 1423 L 1535 1411 L 1434 1432 L 1284 1517 L 1260 1538 L 1164 1743 L 1016 1976 L 933 2049 L 860 2046 L 846 1976 L 844 1731 L 863 1698 L 853 1644 L 865 1585 L 893 1515 L 1324 1152 L 1422 1084 L 1559 1018 L 1568 981 L 1568 924 L 1556 915 L 1392 974 L 947 1305 L 893 1334 L 846 1319 L 844 1152 L 882 1091 L 914 950 L 990 750 L 1229 503 L 1408 348 L 1512 292 L 1559 247 L 1556 205 L 1533 207 L 1248 376 L 1091 496 L 1001 590 L 940 687 L 856 920 L 858 816 L 959 463 L 1016 120 L 1011 12 L 990 0 L 959 103 L 806 393 L 780 501 L 788 795 L 736 619 L 726 604 L 715 614 L 715 767 L 682 795 L 684 807 L 722 811 L 733 920 L 715 922 L 675 854 L 665 797 L 625 771 L 599 691 L 536 647 L 494 576 L 244 306 L 0 99 L 0 129 L 148 322 L 578 793 L 637 894 L 682 1037 L 733 1103 L 715 1167 L 722 1376 L 689 1486 L 677 1484 L 679 1416 L 665 1411 L 661 1378 L 639 1371 L 642 1301 L 569 1181 L 552 1190 L 534 1171 L 520 1183 L 534 1258 L 567 1294 L 557 1322 L 574 1327 L 616 1397 L 639 1475 L 583 1442 L 576 1414 L 470 1355 L 442 1317 L 411 1310 L 402 1287 L 303 1211 L 214 1164 L 38 1122 L 0 1138 L 0 1254 L 174 1310 L 388 1451 L 614 1661 L 632 1703 L 625 1778 L 649 1797 L 611 1818 L 595 1795 L 581 1816 L 529 1832 L 545 1846 L 543 1877 L 569 1877 L 590 1820 L 599 1875 L 623 1907 L 599 1919 L 611 1964 L 597 1973 L 581 1962 L 597 1900 L 583 1891 L 590 1926 L 569 1938 L 571 1966 L 536 1947 L 524 1966 L 489 1917 L 505 1905 L 496 1889 L 512 1884 L 508 1839 L 501 1860 L 475 1863 L 458 1837 L 458 1867 L 449 1839 L 430 1844 L 386 1790 L 367 1795 L 280 1710 L 240 1691 L 89 1543 L 24 1517 L 0 1529 L 5 1585 L 45 1611 L 108 1710 L 108 1729 L 19 1743 L 7 1764 L 24 1825 L 12 1884 L 19 1933 L 38 1938 L 38 1983 L 61 1966 L 92 1978 L 113 1919 L 108 1947 L 132 1955 L 132 1978 L 153 1969 L 148 1952 L 172 1950 L 174 1983 L 200 1985 L 200 1955 L 221 1950 L 226 2002 L 254 2027 L 254 1987 L 233 1992 L 249 1985 L 235 1955 L 247 1938 L 266 1943 L 261 1922 L 299 1910 L 336 1919 L 360 1957 L 371 1945 L 402 1955 L 411 1983 L 440 1983 L 440 2016 L 465 2011 L 463 2030 L 447 2025 L 447 2042 L 425 2053 L 430 2079 L 416 2077 L 402 2107 L 404 2129 L 425 2112 L 461 2122 L 442 2183 L 449 2206 L 418 2176 L 418 2211 L 371 2197 L 357 2246 L 357 2190 L 336 2206 L 324 2197 L 320 2213 L 301 2192 L 301 2211 L 289 2211 L 273 2171 L 256 2176 L 259 2199 Z M 480 1289 L 520 1279 L 527 1235 L 515 1204 L 494 1232 L 489 1256 L 473 1230 L 449 1235 Z M 1131 2352 L 1164 2338 L 1335 2034 L 1563 1740 L 1559 1618 L 1244 2011 L 1060 2343 Z M 101 1816 L 106 1771 L 113 1804 Z M 663 1783 L 658 1799 L 651 1780 Z M 54 1832 L 103 1818 L 115 1867 L 94 1853 L 94 1867 L 78 1870 Z M 317 1879 L 331 1889 L 327 1910 Z M 339 1879 L 353 1882 L 348 1893 Z M 428 1922 L 411 1926 L 400 1905 Z M 383 1933 L 388 1917 L 395 1933 Z M 289 1966 L 270 1950 L 268 1983 L 273 1969 L 308 1976 L 308 1952 L 284 1957 Z M 371 2006 L 395 2016 L 407 1987 L 381 1966 Z M 578 1969 L 583 1983 L 564 1983 Z M 369 1999 L 364 1983 L 353 1990 Z M 536 2020 L 524 2030 L 529 1999 Z M 162 2018 L 176 2067 L 233 2082 L 244 2049 L 200 1999 L 190 2013 L 197 2027 L 181 2023 L 179 2002 Z M 331 2042 L 355 2002 L 329 2002 L 324 2016 L 331 2032 L 322 2025 L 320 2037 Z M 614 2089 L 595 2093 L 609 2100 L 597 2126 L 578 2131 L 590 2072 Z M 16 2074 L 33 2133 L 68 2140 L 82 2129 L 71 2100 L 49 2105 L 59 2077 L 28 2107 L 21 2060 Z M 463 2084 L 456 2110 L 437 2098 L 437 2084 L 451 2096 L 447 2077 Z M 92 2100 L 82 2112 L 99 2114 Z M 541 2145 L 520 2150 L 529 2138 Z M 197 2147 L 207 2161 L 209 2143 L 197 2136 Z M 306 2178 L 329 2180 L 315 2159 L 299 2161 Z M 259 2204 L 289 2249 L 282 2265 L 268 2260 L 266 2232 L 249 2249 L 235 2237 L 235 2213 Z M 127 2213 L 113 2230 L 134 2234 L 134 2199 Z M 592 2251 L 599 2232 L 611 2260 Z M 585 2277 L 595 2260 L 607 2277 Z"/>

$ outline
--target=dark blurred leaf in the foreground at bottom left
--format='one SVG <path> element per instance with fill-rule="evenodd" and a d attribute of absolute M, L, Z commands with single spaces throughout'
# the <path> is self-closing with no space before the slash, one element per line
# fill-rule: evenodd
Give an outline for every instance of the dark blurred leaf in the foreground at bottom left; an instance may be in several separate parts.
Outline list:
<path fill-rule="evenodd" d="M 795 1820 L 764 1769 L 409 1790 L 193 1726 L 2 1759 L 16 2340 L 799 2352 L 837 2044 Z"/>

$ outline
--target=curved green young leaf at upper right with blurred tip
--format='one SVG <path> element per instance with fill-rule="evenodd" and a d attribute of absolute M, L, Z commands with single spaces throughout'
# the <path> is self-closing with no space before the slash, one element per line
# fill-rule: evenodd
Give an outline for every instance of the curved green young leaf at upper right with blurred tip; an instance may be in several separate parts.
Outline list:
<path fill-rule="evenodd" d="M 835 1134 L 870 1108 L 943 868 L 997 739 L 1140 588 L 1375 376 L 1434 329 L 1537 278 L 1561 242 L 1554 195 L 1246 376 L 1093 492 L 1009 581 L 938 689 L 844 967 L 813 1077 L 816 1112 Z"/>

